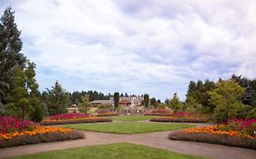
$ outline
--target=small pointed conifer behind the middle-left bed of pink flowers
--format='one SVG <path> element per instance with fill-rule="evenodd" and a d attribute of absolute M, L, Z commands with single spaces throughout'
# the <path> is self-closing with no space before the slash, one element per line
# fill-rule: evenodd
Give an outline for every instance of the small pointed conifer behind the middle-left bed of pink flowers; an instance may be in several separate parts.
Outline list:
<path fill-rule="evenodd" d="M 49 114 L 64 114 L 67 113 L 67 106 L 69 104 L 69 95 L 66 90 L 57 81 L 51 87 L 51 89 L 46 88 L 46 105 Z"/>

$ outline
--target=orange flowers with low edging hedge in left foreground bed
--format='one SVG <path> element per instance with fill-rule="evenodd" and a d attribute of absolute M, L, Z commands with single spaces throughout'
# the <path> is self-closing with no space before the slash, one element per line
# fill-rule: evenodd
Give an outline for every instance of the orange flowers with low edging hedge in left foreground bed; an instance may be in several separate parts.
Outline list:
<path fill-rule="evenodd" d="M 85 138 L 85 134 L 76 130 L 61 127 L 35 126 L 32 131 L 25 130 L 21 132 L 0 134 L 0 148 L 15 145 L 74 140 L 78 138 Z"/>

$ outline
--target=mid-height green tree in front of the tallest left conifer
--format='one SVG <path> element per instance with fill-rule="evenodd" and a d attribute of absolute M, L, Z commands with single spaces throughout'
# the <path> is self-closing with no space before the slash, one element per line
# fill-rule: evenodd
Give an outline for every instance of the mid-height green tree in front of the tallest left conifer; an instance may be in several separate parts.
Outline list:
<path fill-rule="evenodd" d="M 36 65 L 28 61 L 25 69 L 16 66 L 12 70 L 11 85 L 14 89 L 6 97 L 6 114 L 16 115 L 22 120 L 28 115 L 36 122 L 42 120 L 35 69 Z"/>

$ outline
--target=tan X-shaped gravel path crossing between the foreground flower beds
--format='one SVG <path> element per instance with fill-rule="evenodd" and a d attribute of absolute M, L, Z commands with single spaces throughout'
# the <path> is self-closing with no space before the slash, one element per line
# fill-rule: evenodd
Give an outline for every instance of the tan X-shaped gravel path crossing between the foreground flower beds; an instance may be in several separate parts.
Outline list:
<path fill-rule="evenodd" d="M 197 124 L 204 126 L 206 124 Z M 46 144 L 30 144 L 0 149 L 0 158 L 34 154 L 53 150 L 81 147 L 96 144 L 131 143 L 166 149 L 181 154 L 194 154 L 218 159 L 254 159 L 256 151 L 251 149 L 231 147 L 219 144 L 205 144 L 168 139 L 168 134 L 174 131 L 154 132 L 146 134 L 106 134 L 83 131 L 86 139 L 62 141 Z"/>

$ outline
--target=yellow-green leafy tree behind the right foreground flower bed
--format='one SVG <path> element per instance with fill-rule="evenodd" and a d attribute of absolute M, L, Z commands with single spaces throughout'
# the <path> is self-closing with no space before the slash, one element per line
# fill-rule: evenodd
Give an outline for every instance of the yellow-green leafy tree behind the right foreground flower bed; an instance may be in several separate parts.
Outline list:
<path fill-rule="evenodd" d="M 211 104 L 216 105 L 213 114 L 215 119 L 221 122 L 236 118 L 241 109 L 246 107 L 238 101 L 244 94 L 244 88 L 233 80 L 220 80 L 216 86 L 209 92 Z"/>

